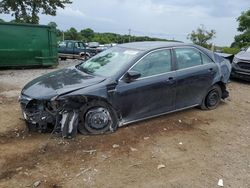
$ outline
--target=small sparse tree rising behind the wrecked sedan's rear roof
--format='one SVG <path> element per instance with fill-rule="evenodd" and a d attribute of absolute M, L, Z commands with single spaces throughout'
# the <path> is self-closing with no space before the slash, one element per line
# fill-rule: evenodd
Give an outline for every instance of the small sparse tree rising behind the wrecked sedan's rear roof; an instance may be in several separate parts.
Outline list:
<path fill-rule="evenodd" d="M 207 31 L 205 26 L 201 25 L 196 31 L 192 31 L 187 38 L 190 39 L 194 44 L 203 46 L 205 48 L 210 48 L 211 44 L 208 42 L 215 38 L 215 34 L 215 30 Z"/>

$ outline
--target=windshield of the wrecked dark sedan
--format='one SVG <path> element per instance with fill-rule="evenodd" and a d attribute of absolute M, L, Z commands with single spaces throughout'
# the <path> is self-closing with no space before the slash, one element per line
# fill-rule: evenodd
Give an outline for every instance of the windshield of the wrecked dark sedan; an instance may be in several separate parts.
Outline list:
<path fill-rule="evenodd" d="M 139 52 L 135 49 L 113 47 L 80 64 L 78 68 L 89 74 L 111 77 L 135 58 Z"/>

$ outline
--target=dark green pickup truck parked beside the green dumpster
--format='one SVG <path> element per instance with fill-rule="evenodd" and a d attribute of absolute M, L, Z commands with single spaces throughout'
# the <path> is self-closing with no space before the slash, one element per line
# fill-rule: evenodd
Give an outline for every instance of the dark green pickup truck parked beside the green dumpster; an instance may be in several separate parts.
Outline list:
<path fill-rule="evenodd" d="M 62 60 L 67 58 L 89 59 L 101 52 L 101 49 L 88 47 L 84 42 L 65 40 L 58 44 L 58 56 Z"/>

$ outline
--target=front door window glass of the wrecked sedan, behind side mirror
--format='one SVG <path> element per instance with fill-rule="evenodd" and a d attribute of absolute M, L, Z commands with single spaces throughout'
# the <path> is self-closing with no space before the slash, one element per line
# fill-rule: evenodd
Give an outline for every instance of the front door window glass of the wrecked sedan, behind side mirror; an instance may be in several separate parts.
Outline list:
<path fill-rule="evenodd" d="M 170 50 L 158 50 L 141 59 L 132 69 L 141 74 L 140 78 L 163 74 L 171 71 Z"/>

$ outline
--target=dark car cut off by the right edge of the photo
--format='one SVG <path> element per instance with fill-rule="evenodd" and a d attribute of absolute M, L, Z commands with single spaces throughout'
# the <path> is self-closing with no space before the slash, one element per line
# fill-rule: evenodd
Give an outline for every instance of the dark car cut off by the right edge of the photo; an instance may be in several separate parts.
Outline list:
<path fill-rule="evenodd" d="M 231 77 L 250 81 L 250 47 L 234 56 Z"/>

